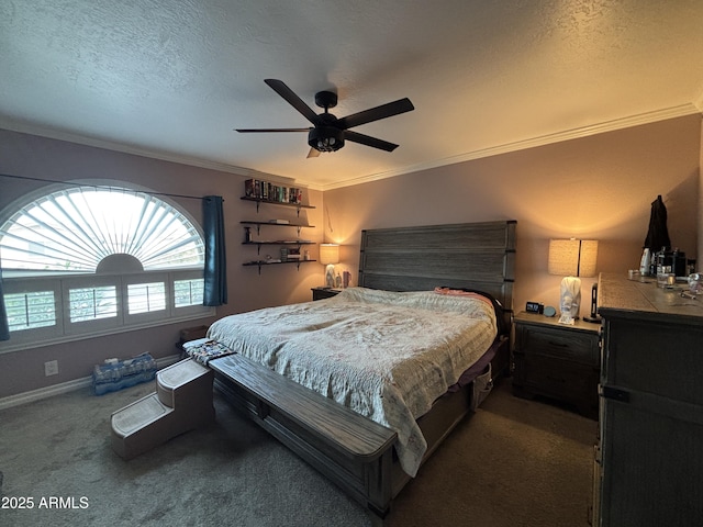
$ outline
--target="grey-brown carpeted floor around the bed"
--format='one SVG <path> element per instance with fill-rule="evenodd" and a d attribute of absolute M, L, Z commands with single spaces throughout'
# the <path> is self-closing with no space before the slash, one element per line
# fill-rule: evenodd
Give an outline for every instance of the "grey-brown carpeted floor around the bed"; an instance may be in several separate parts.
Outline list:
<path fill-rule="evenodd" d="M 213 426 L 123 461 L 110 447 L 110 414 L 153 391 L 86 389 L 0 412 L 0 525 L 370 525 L 220 397 Z M 387 524 L 588 527 L 595 433 L 595 422 L 515 399 L 503 381 L 398 496 Z"/>

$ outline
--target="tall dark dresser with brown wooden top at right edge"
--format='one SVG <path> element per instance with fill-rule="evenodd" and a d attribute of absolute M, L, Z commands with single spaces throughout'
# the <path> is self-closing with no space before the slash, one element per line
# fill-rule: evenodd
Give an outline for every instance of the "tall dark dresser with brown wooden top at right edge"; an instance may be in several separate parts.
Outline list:
<path fill-rule="evenodd" d="M 703 295 L 601 274 L 593 525 L 703 525 Z"/>

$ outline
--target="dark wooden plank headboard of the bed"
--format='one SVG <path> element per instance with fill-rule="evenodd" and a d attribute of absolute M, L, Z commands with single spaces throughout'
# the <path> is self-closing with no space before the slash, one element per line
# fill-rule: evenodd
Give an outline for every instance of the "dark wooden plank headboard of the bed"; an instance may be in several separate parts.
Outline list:
<path fill-rule="evenodd" d="M 517 222 L 361 231 L 359 285 L 423 291 L 437 285 L 492 294 L 512 314 Z"/>

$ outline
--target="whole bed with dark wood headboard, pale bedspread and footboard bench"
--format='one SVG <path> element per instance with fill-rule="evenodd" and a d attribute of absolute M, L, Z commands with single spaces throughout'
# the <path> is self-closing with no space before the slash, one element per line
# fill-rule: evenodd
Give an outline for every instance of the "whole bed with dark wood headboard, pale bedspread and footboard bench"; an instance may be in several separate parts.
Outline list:
<path fill-rule="evenodd" d="M 473 378 L 509 369 L 515 226 L 362 231 L 357 288 L 210 327 L 235 351 L 209 362 L 216 388 L 382 525 Z"/>

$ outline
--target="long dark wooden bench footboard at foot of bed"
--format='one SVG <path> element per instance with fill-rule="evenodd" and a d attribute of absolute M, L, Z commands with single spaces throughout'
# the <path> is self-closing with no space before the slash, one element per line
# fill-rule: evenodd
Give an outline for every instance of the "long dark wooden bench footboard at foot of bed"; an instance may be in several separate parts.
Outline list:
<path fill-rule="evenodd" d="M 397 434 L 239 355 L 211 360 L 215 386 L 235 407 L 366 506 L 390 511 Z"/>

